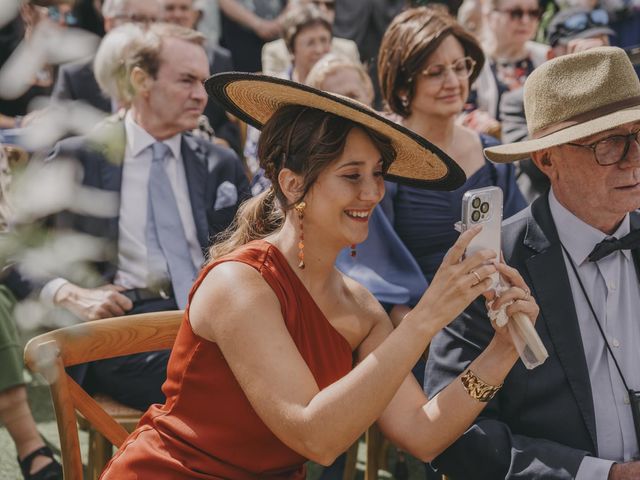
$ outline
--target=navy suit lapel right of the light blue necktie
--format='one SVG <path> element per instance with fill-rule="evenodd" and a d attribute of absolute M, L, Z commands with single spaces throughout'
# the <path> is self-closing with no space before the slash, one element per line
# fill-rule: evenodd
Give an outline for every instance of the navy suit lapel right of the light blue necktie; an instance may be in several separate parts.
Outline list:
<path fill-rule="evenodd" d="M 209 174 L 207 159 L 198 142 L 186 135 L 182 136 L 181 153 L 198 241 L 202 248 L 206 249 L 209 246 L 209 222 L 206 205 Z"/>

